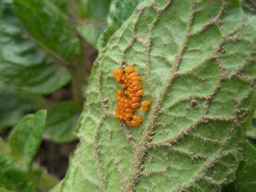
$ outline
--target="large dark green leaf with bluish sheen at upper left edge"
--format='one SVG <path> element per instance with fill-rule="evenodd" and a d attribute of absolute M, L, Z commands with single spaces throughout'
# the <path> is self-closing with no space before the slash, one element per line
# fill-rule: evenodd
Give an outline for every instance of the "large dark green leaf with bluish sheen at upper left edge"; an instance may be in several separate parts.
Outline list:
<path fill-rule="evenodd" d="M 36 94 L 50 93 L 70 80 L 65 66 L 54 64 L 28 39 L 14 16 L 11 0 L 0 1 L 0 79 Z"/>

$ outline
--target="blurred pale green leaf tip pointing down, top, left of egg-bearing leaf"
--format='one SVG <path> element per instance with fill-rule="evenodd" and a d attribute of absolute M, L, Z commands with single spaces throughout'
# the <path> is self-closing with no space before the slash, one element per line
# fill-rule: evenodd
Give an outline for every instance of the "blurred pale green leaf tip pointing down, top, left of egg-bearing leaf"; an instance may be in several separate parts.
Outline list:
<path fill-rule="evenodd" d="M 110 2 L 111 0 L 87 0 L 80 5 L 83 19 L 76 29 L 94 48 L 97 48 L 98 38 L 107 27 Z"/>

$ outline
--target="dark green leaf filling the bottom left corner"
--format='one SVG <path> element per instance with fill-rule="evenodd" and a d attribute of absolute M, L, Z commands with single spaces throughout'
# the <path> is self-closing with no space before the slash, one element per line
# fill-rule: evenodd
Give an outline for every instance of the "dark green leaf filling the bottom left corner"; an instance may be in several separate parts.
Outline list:
<path fill-rule="evenodd" d="M 17 192 L 36 192 L 33 181 L 13 160 L 0 153 L 0 188 Z M 1 189 L 0 189 L 1 190 Z"/>

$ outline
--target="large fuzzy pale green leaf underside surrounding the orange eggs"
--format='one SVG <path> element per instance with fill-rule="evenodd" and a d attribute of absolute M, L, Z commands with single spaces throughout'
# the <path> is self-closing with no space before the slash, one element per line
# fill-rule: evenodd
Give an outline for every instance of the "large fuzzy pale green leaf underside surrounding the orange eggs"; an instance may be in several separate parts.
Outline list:
<path fill-rule="evenodd" d="M 255 38 L 238 0 L 140 4 L 94 63 L 62 191 L 221 191 L 255 108 Z M 152 104 L 130 128 L 112 70 L 133 64 Z"/>

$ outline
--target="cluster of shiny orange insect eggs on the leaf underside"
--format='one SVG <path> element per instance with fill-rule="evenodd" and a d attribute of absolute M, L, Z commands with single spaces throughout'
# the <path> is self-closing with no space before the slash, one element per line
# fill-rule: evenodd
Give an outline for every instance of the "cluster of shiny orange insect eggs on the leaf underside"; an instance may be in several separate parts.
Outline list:
<path fill-rule="evenodd" d="M 124 69 L 114 69 L 114 78 L 117 82 L 121 82 L 122 90 L 118 90 L 115 94 L 118 102 L 116 104 L 116 118 L 124 120 L 128 126 L 140 126 L 143 118 L 134 115 L 135 109 L 140 105 L 140 111 L 145 112 L 148 110 L 148 106 L 151 102 L 146 100 L 140 103 L 140 96 L 144 93 L 142 89 L 141 76 L 134 71 L 133 66 L 126 66 Z"/>

